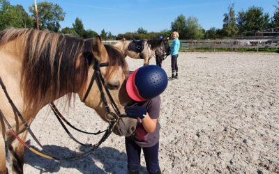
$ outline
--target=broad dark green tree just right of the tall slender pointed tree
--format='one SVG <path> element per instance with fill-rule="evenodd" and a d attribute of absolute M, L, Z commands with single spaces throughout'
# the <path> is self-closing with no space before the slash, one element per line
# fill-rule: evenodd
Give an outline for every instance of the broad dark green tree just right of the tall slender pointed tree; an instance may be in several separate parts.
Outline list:
<path fill-rule="evenodd" d="M 266 29 L 269 26 L 269 14 L 261 7 L 249 7 L 247 11 L 240 11 L 236 19 L 239 32 L 252 32 Z"/>

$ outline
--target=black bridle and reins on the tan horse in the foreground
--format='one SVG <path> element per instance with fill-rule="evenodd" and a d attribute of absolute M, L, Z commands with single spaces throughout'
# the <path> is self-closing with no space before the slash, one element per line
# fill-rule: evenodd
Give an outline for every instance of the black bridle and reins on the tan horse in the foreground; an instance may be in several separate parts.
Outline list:
<path fill-rule="evenodd" d="M 54 155 L 50 155 L 51 153 L 48 152 L 47 150 L 45 150 L 45 148 L 43 148 L 43 145 L 40 143 L 40 141 L 38 141 L 38 139 L 36 138 L 36 136 L 33 134 L 33 132 L 31 131 L 28 123 L 26 120 L 24 120 L 22 114 L 20 113 L 20 111 L 17 109 L 17 107 L 15 106 L 15 104 L 13 103 L 13 100 L 11 100 L 10 95 L 8 95 L 8 92 L 6 90 L 6 86 L 3 84 L 3 81 L 0 77 L 0 85 L 8 99 L 8 102 L 10 103 L 10 105 L 12 106 L 13 111 L 15 112 L 15 114 L 20 118 L 20 120 L 22 121 L 22 123 L 24 124 L 25 129 L 27 129 L 27 131 L 29 132 L 29 134 L 32 136 L 33 140 L 36 141 L 36 143 L 38 143 L 38 145 L 40 146 L 40 148 L 42 148 L 43 152 L 38 152 L 38 150 L 35 150 L 34 148 L 32 148 L 30 145 L 27 145 L 27 143 L 25 143 L 24 141 L 22 141 L 22 139 L 20 139 L 20 137 L 15 133 L 15 131 L 13 130 L 13 128 L 11 127 L 10 123 L 8 122 L 8 120 L 5 118 L 5 116 L 3 115 L 2 111 L 0 110 L 0 116 L 1 118 L 4 120 L 4 122 L 6 122 L 6 125 L 8 125 L 8 129 L 10 129 L 10 132 L 13 134 L 13 136 L 15 136 L 15 138 L 20 141 L 20 143 L 22 143 L 22 145 L 24 145 L 26 148 L 28 148 L 29 150 L 31 150 L 31 152 L 35 153 L 36 155 L 39 155 L 40 157 L 45 157 L 47 159 L 52 159 L 55 161 L 75 161 L 78 159 L 82 159 L 88 155 L 91 154 L 91 152 L 93 152 L 94 150 L 96 150 L 101 143 L 103 143 L 112 133 L 112 129 L 114 128 L 114 126 L 116 125 L 116 123 L 119 121 L 119 119 L 126 117 L 126 113 L 121 114 L 116 103 L 114 102 L 112 95 L 110 94 L 110 90 L 108 90 L 107 86 L 105 86 L 105 80 L 103 78 L 103 76 L 100 74 L 100 67 L 105 67 L 108 66 L 109 63 L 98 63 L 98 61 L 96 61 L 95 59 L 95 63 L 93 65 L 93 75 L 91 77 L 91 81 L 89 84 L 89 87 L 86 90 L 86 93 L 84 95 L 84 98 L 82 100 L 82 102 L 85 102 L 86 98 L 88 97 L 91 88 L 93 86 L 93 82 L 96 80 L 96 83 L 98 85 L 98 88 L 100 90 L 100 97 L 102 102 L 105 104 L 105 110 L 106 110 L 106 119 L 109 122 L 109 125 L 107 127 L 107 129 L 105 129 L 105 132 L 102 136 L 102 138 L 100 139 L 100 141 L 98 141 L 98 143 L 94 144 L 94 145 L 86 145 L 84 143 L 80 143 L 80 141 L 77 141 L 72 134 L 70 134 L 70 132 L 68 131 L 68 129 L 66 128 L 65 125 L 63 125 L 63 122 L 66 122 L 67 125 L 69 125 L 70 127 L 72 127 L 73 129 L 79 131 L 79 132 L 83 132 L 85 134 L 100 134 L 103 132 L 96 132 L 96 133 L 89 133 L 89 132 L 84 132 L 80 129 L 77 129 L 75 127 L 73 127 L 73 125 L 70 125 L 70 123 L 63 118 L 63 116 L 61 115 L 61 113 L 59 113 L 58 109 L 56 109 L 56 106 L 53 103 L 50 103 L 50 106 L 52 108 L 52 111 L 54 111 L 54 114 L 56 116 L 56 118 L 59 120 L 60 124 L 62 125 L 62 127 L 65 129 L 65 131 L 67 132 L 67 134 L 70 136 L 71 139 L 73 139 L 75 142 L 79 143 L 80 145 L 85 145 L 85 146 L 89 146 L 90 149 L 87 150 L 86 152 L 83 152 L 79 155 L 76 155 L 74 157 L 66 157 L 66 158 L 59 158 L 56 157 Z M 107 99 L 105 97 L 105 93 L 103 91 L 103 88 L 105 88 L 105 92 L 107 93 L 107 96 L 109 97 L 110 101 L 112 102 L 112 108 L 114 109 L 114 112 L 110 111 L 110 106 L 107 104 Z M 112 116 L 112 119 L 107 118 L 107 116 Z"/>

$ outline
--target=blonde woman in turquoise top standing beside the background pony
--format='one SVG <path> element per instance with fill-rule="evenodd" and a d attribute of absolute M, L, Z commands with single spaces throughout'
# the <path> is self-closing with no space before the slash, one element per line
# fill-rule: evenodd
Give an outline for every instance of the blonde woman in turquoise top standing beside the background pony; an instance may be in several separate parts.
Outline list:
<path fill-rule="evenodd" d="M 177 67 L 177 58 L 179 57 L 179 33 L 174 31 L 172 32 L 172 46 L 170 47 L 170 55 L 172 56 L 172 79 L 179 78 L 179 68 Z"/>

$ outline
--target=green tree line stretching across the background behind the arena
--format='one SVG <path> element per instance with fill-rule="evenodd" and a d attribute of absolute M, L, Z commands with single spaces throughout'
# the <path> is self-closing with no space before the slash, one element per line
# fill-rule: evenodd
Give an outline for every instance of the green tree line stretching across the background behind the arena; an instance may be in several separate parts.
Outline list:
<path fill-rule="evenodd" d="M 66 13 L 57 3 L 40 2 L 38 6 L 39 27 L 56 33 L 75 35 L 80 38 L 93 38 L 98 33 L 91 29 L 84 29 L 82 19 L 77 17 L 71 27 L 61 29 L 60 22 L 64 20 Z M 100 36 L 104 40 L 151 39 L 158 35 L 168 37 L 172 31 L 180 33 L 180 39 L 217 39 L 235 38 L 238 33 L 255 33 L 264 29 L 279 27 L 279 1 L 274 5 L 274 13 L 264 13 L 262 7 L 250 6 L 248 10 L 235 12 L 234 4 L 229 5 L 227 13 L 223 15 L 223 28 L 211 27 L 205 30 L 199 24 L 197 17 L 185 17 L 179 15 L 171 23 L 171 29 L 159 32 L 149 32 L 140 27 L 135 32 L 112 35 L 110 31 L 103 29 Z M 17 4 L 11 5 L 8 0 L 0 0 L 0 30 L 14 28 L 36 28 L 36 13 L 34 6 L 29 6 L 29 15 L 24 8 Z"/>

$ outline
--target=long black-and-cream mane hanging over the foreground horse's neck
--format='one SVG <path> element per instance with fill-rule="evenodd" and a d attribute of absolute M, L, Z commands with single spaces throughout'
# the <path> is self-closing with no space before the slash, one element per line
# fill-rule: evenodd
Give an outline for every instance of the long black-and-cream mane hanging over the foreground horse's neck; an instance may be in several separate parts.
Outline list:
<path fill-rule="evenodd" d="M 46 100 L 52 102 L 61 93 L 73 92 L 75 62 L 84 40 L 35 29 L 8 29 L 0 35 L 0 46 L 17 39 L 17 45 L 22 47 L 20 84 L 26 112 L 40 109 Z M 81 81 L 84 81 L 88 65 L 84 58 L 80 61 Z"/>

